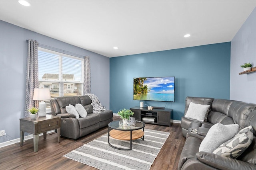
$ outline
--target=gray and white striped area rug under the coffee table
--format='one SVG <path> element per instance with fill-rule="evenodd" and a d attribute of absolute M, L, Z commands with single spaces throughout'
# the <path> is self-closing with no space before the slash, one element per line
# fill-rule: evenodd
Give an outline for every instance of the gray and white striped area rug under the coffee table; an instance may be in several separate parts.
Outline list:
<path fill-rule="evenodd" d="M 144 141 L 132 141 L 132 150 L 110 147 L 106 133 L 64 156 L 100 170 L 149 170 L 170 133 L 149 129 L 144 132 Z M 130 141 L 110 138 L 110 143 L 115 147 L 130 148 Z"/>

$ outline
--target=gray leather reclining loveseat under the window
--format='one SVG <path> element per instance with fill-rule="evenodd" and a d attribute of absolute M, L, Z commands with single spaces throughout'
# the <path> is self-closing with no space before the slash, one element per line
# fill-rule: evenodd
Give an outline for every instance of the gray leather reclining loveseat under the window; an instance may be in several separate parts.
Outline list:
<path fill-rule="evenodd" d="M 79 117 L 72 113 L 67 113 L 66 106 L 69 104 L 75 106 L 82 104 L 87 111 L 86 117 Z M 102 111 L 100 113 L 92 113 L 92 100 L 89 96 L 65 96 L 57 97 L 50 100 L 52 115 L 61 117 L 60 135 L 63 137 L 78 139 L 93 131 L 105 127 L 113 120 L 112 110 Z"/>

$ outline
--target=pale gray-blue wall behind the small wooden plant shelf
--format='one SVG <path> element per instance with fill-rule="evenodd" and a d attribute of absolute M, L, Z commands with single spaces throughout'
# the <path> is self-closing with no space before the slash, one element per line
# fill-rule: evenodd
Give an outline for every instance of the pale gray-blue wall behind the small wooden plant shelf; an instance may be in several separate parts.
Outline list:
<path fill-rule="evenodd" d="M 230 100 L 256 103 L 256 72 L 238 74 L 248 62 L 256 66 L 256 8 L 231 41 Z"/>

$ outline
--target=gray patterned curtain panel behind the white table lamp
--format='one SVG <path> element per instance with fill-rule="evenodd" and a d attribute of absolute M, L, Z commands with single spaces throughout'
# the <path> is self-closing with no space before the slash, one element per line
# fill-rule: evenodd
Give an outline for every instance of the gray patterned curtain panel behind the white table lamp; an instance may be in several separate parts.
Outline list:
<path fill-rule="evenodd" d="M 38 108 L 38 101 L 33 100 L 34 88 L 38 88 L 38 43 L 34 40 L 28 41 L 28 57 L 26 70 L 26 106 L 25 117 L 29 117 L 28 109 Z"/>

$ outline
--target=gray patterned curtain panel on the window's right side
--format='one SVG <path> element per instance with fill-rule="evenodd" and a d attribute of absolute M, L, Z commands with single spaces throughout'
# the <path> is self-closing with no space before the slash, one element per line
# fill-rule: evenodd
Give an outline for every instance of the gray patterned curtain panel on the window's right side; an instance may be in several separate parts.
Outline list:
<path fill-rule="evenodd" d="M 91 67 L 90 57 L 84 57 L 84 95 L 91 93 Z"/>

